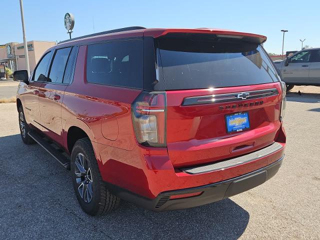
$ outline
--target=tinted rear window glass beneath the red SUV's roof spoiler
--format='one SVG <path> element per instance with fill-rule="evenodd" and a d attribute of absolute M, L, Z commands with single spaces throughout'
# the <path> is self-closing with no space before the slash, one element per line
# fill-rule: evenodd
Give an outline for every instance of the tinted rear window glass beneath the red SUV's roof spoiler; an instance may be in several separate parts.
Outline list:
<path fill-rule="evenodd" d="M 230 38 L 158 39 L 167 90 L 241 86 L 278 81 L 260 45 Z"/>

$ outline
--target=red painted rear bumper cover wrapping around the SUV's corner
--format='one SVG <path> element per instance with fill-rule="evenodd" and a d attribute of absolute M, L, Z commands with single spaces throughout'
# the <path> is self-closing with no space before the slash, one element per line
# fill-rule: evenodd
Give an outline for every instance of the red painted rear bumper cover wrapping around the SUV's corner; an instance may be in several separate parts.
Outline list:
<path fill-rule="evenodd" d="M 283 148 L 266 157 L 235 167 L 190 175 L 174 168 L 166 148 L 137 145 L 132 151 L 94 143 L 103 180 L 139 195 L 154 198 L 160 192 L 201 186 L 230 179 L 279 159 Z"/>

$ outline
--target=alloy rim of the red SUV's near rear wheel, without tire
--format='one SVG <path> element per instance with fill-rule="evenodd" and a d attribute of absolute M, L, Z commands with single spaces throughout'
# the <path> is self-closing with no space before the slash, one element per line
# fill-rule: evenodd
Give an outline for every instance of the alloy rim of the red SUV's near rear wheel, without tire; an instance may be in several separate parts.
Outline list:
<path fill-rule="evenodd" d="M 93 196 L 91 169 L 88 167 L 86 157 L 78 153 L 74 161 L 75 180 L 78 185 L 78 192 L 84 202 L 89 203 Z"/>

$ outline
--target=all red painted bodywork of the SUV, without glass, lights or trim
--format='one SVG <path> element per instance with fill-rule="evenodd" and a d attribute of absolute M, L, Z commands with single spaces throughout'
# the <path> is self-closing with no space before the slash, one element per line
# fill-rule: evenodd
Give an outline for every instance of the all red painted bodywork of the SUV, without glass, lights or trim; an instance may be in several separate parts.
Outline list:
<path fill-rule="evenodd" d="M 148 198 L 154 198 L 167 190 L 230 179 L 279 159 L 284 151 L 285 133 L 279 121 L 281 88 L 278 82 L 167 91 L 167 147 L 147 147 L 137 142 L 131 119 L 131 103 L 142 90 L 88 83 L 85 44 L 143 35 L 158 37 L 168 32 L 243 35 L 255 37 L 261 42 L 266 39 L 261 35 L 220 29 L 153 28 L 87 37 L 59 44 L 59 47 L 74 43 L 80 45 L 73 82 L 69 85 L 20 83 L 17 98 L 21 99 L 24 112 L 28 111 L 26 107 L 34 109 L 32 114 L 25 114 L 27 122 L 56 140 L 66 151 L 68 130 L 74 126 L 81 128 L 92 142 L 103 180 Z M 241 109 L 249 111 L 251 124 L 251 130 L 241 134 L 226 134 L 224 120 L 221 121 L 225 114 L 238 109 L 220 110 L 218 106 L 221 104 L 218 103 L 181 107 L 186 96 L 266 88 L 277 88 L 279 94 L 263 99 L 263 105 Z M 32 94 L 33 90 L 38 90 L 39 95 Z M 60 95 L 60 99 L 54 100 L 54 94 Z M 39 110 L 36 110 L 37 107 Z M 41 125 L 34 124 L 34 120 Z M 208 128 L 209 122 L 214 122 L 213 127 Z M 280 142 L 283 147 L 268 156 L 238 166 L 194 175 L 178 169 L 180 166 L 213 162 L 244 154 L 274 141 Z M 251 144 L 252 148 L 232 151 L 241 144 Z"/>

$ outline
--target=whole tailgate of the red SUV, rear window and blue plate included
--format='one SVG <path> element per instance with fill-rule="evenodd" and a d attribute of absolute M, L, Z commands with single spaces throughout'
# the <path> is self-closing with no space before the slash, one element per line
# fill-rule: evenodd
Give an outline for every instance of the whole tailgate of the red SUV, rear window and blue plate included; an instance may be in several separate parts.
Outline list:
<path fill-rule="evenodd" d="M 282 91 L 261 45 L 242 36 L 193 33 L 168 33 L 155 43 L 174 167 L 272 144 L 280 127 Z"/>

